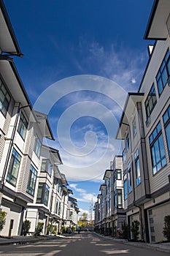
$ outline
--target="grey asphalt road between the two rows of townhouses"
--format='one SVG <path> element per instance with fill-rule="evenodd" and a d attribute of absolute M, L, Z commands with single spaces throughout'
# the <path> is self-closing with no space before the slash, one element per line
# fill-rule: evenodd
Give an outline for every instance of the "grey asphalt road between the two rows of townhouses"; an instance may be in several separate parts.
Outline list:
<path fill-rule="evenodd" d="M 169 253 L 139 248 L 82 232 L 72 237 L 55 238 L 30 244 L 0 246 L 0 255 L 6 256 L 166 256 Z"/>

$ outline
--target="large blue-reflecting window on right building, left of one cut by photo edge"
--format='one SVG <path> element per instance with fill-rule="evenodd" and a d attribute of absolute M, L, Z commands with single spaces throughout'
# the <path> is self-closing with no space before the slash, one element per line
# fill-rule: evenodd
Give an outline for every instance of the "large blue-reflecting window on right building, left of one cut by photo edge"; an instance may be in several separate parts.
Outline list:
<path fill-rule="evenodd" d="M 152 172 L 155 174 L 166 165 L 165 148 L 163 145 L 163 135 L 161 132 L 160 122 L 150 135 L 149 140 L 152 158 Z"/>

